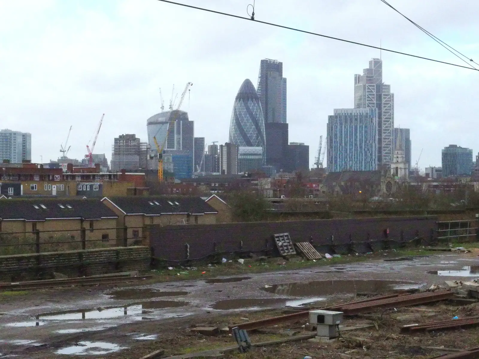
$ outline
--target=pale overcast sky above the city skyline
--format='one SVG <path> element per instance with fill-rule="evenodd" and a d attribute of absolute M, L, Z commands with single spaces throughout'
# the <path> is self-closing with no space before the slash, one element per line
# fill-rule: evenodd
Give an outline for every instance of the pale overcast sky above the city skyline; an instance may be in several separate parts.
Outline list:
<path fill-rule="evenodd" d="M 252 0 L 179 0 L 247 16 Z M 479 63 L 479 1 L 389 0 Z M 256 19 L 461 63 L 380 0 L 256 0 Z M 206 143 L 228 141 L 231 110 L 260 60 L 283 62 L 289 140 L 309 145 L 334 108 L 354 105 L 354 74 L 379 51 L 232 19 L 157 0 L 0 0 L 0 127 L 32 134 L 32 160 L 57 159 L 73 126 L 69 157 L 82 158 L 102 113 L 94 153 L 111 158 L 114 137 L 147 140 L 146 120 L 181 94 Z M 394 123 L 411 128 L 413 165 L 441 165 L 449 144 L 479 151 L 479 72 L 382 52 L 395 94 Z M 475 85 L 474 85 L 475 84 Z M 475 157 L 474 157 L 475 160 Z M 325 163 L 326 164 L 326 163 Z"/>

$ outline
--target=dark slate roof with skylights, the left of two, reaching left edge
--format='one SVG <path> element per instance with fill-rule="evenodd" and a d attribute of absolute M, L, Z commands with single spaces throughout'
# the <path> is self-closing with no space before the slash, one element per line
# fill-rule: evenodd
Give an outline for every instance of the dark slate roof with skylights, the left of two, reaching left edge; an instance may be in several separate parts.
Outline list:
<path fill-rule="evenodd" d="M 46 219 L 118 218 L 98 199 L 12 199 L 0 201 L 0 219 L 45 221 Z"/>

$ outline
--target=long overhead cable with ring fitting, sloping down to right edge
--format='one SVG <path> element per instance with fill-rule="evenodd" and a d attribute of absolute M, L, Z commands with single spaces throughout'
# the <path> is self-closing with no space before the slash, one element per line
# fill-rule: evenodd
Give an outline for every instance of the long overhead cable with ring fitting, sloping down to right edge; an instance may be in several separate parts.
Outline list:
<path fill-rule="evenodd" d="M 378 46 L 362 44 L 362 43 L 358 43 L 358 42 L 351 41 L 351 40 L 341 39 L 341 38 L 339 38 L 339 37 L 333 37 L 333 36 L 328 36 L 328 35 L 323 35 L 323 34 L 317 34 L 317 33 L 313 33 L 313 32 L 306 31 L 306 30 L 296 29 L 296 28 L 294 28 L 294 27 L 289 27 L 289 26 L 285 26 L 285 25 L 275 24 L 275 23 L 273 23 L 273 22 L 265 22 L 265 21 L 256 20 L 256 19 L 253 20 L 253 19 L 248 18 L 248 17 L 243 17 L 243 16 L 239 16 L 239 15 L 234 15 L 234 14 L 230 14 L 230 13 L 227 13 L 227 12 L 221 12 L 221 11 L 215 11 L 215 10 L 200 8 L 200 7 L 197 7 L 197 6 L 182 4 L 182 3 L 180 3 L 180 2 L 175 2 L 175 1 L 170 1 L 170 0 L 158 0 L 158 1 L 166 2 L 166 3 L 169 3 L 169 4 L 173 4 L 173 5 L 183 6 L 183 7 L 186 7 L 186 8 L 191 8 L 191 9 L 196 9 L 196 10 L 201 10 L 201 11 L 207 11 L 207 12 L 212 12 L 212 13 L 219 14 L 219 15 L 234 17 L 234 18 L 237 18 L 237 19 L 259 22 L 259 23 L 262 23 L 262 24 L 265 24 L 265 25 L 280 27 L 280 28 L 282 28 L 282 29 L 287 29 L 287 30 L 293 30 L 293 31 L 297 31 L 297 32 L 303 33 L 303 34 L 310 34 L 310 35 L 325 37 L 325 38 L 327 38 L 327 39 L 342 41 L 342 42 L 345 42 L 345 43 L 348 43 L 348 44 L 361 45 L 361 46 L 370 47 L 370 48 L 377 49 L 377 50 L 382 50 L 382 51 L 391 52 L 391 53 L 394 53 L 394 54 L 399 54 L 399 55 L 404 55 L 404 56 L 411 56 L 411 57 L 415 57 L 415 58 L 421 58 L 421 59 L 423 59 L 423 60 L 438 62 L 438 63 L 445 64 L 445 65 L 450 65 L 450 66 L 455 66 L 455 67 L 462 67 L 462 68 L 467 68 L 467 69 L 469 69 L 469 70 L 479 71 L 477 68 L 474 68 L 474 67 L 457 65 L 457 64 L 450 63 L 450 62 L 435 60 L 435 59 L 429 58 L 429 57 L 412 55 L 412 54 L 408 54 L 408 53 L 405 53 L 405 52 L 400 52 L 400 51 L 385 49 L 385 48 L 378 47 Z"/>

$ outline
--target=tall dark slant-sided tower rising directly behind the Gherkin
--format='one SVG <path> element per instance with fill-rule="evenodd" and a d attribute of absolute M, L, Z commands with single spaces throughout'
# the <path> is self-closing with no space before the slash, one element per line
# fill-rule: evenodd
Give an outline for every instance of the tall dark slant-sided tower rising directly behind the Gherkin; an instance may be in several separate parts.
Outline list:
<path fill-rule="evenodd" d="M 265 123 L 286 123 L 286 79 L 283 78 L 282 62 L 261 60 L 258 96 Z"/>

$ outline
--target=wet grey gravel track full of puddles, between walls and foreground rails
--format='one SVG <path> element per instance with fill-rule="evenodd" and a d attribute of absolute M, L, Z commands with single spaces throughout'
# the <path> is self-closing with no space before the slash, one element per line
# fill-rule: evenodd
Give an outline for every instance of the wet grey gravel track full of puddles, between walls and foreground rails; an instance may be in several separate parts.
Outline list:
<path fill-rule="evenodd" d="M 477 265 L 479 260 L 474 257 L 439 255 L 118 291 L 103 286 L 31 292 L 0 306 L 0 358 L 9 354 L 20 358 L 85 354 L 102 358 L 139 341 L 155 339 L 161 330 L 184 326 L 185 318 L 190 322 L 212 314 L 251 313 L 332 297 L 347 299 L 356 293 L 418 288 L 461 279 L 459 275 L 470 280 L 476 276 Z"/>

